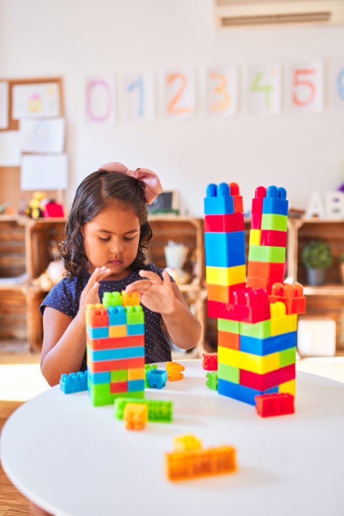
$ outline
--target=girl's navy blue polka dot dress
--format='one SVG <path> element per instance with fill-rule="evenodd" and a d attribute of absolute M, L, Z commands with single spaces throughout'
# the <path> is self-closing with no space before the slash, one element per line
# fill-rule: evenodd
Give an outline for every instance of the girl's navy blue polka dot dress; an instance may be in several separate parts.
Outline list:
<path fill-rule="evenodd" d="M 157 273 L 161 278 L 163 269 L 154 265 L 153 262 L 146 265 L 144 269 Z M 50 293 L 43 300 L 40 306 L 41 314 L 43 315 L 45 307 L 51 307 L 74 318 L 79 310 L 81 292 L 83 292 L 86 287 L 89 278 L 90 274 L 86 269 L 72 280 L 63 278 L 52 288 Z M 104 292 L 121 292 L 127 285 L 137 280 L 142 280 L 141 276 L 139 276 L 137 272 L 130 272 L 129 275 L 122 280 L 107 281 L 105 279 L 101 281 L 98 291 L 100 300 L 102 300 Z M 174 281 L 172 278 L 171 280 Z M 143 307 L 143 311 L 145 326 L 145 362 L 171 361 L 171 347 L 165 333 L 162 331 L 161 315 L 157 312 L 152 312 L 146 307 Z M 85 371 L 86 369 L 85 352 L 80 370 Z"/>

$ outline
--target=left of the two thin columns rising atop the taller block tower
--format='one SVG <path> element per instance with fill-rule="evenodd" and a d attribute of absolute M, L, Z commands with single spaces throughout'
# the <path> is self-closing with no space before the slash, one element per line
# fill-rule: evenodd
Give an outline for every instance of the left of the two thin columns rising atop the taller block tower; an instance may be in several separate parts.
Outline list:
<path fill-rule="evenodd" d="M 222 317 L 233 290 L 246 281 L 244 218 L 238 185 L 210 184 L 204 211 L 208 316 L 217 318 Z"/>

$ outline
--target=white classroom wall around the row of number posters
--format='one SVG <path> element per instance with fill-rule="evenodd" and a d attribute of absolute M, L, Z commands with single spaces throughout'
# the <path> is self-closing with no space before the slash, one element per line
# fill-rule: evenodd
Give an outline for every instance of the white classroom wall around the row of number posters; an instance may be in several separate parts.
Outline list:
<path fill-rule="evenodd" d="M 215 29 L 212 0 L 0 0 L 0 77 L 64 78 L 70 204 L 102 163 L 158 172 L 202 216 L 205 186 L 237 181 L 250 206 L 259 184 L 285 186 L 293 206 L 344 180 L 344 109 L 322 114 L 87 125 L 85 78 L 125 72 L 323 58 L 344 63 L 343 27 Z M 331 70 L 330 70 L 331 71 Z M 329 69 L 325 76 L 329 77 Z M 201 94 L 202 97 L 202 94 Z"/>

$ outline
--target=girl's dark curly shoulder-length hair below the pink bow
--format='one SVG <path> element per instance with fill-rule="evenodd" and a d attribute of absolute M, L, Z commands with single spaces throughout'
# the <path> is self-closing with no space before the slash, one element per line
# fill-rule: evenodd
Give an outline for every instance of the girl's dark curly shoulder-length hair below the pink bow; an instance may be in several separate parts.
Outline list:
<path fill-rule="evenodd" d="M 119 172 L 98 170 L 88 175 L 78 186 L 65 224 L 66 238 L 60 245 L 58 258 L 62 260 L 68 278 L 78 276 L 88 263 L 82 231 L 84 225 L 113 202 L 132 206 L 140 220 L 139 246 L 131 266 L 136 272 L 144 268 L 144 250 L 152 238 L 144 200 L 144 184 Z"/>

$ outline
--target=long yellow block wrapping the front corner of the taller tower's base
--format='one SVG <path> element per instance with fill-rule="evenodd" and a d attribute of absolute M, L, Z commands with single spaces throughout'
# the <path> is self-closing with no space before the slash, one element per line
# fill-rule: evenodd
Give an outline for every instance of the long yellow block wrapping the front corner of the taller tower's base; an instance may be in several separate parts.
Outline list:
<path fill-rule="evenodd" d="M 265 373 L 280 369 L 280 353 L 270 353 L 261 357 L 252 353 L 219 346 L 218 362 L 219 364 L 231 365 L 238 369 L 245 369 L 258 375 L 265 375 Z"/>

